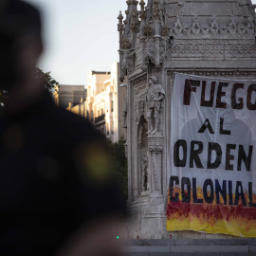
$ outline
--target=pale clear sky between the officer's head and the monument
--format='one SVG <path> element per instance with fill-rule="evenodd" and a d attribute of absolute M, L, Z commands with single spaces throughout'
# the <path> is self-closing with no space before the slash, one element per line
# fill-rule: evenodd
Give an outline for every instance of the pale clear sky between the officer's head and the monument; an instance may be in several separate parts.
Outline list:
<path fill-rule="evenodd" d="M 89 71 L 110 71 L 119 62 L 118 16 L 122 10 L 125 17 L 126 0 L 27 2 L 43 14 L 45 53 L 38 65 L 60 84 L 86 85 Z"/>

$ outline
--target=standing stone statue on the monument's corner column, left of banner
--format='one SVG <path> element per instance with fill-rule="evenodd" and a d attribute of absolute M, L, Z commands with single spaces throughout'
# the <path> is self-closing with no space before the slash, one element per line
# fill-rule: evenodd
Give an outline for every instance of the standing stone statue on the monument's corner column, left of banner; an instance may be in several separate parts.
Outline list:
<path fill-rule="evenodd" d="M 148 135 L 155 135 L 161 117 L 162 103 L 165 98 L 165 91 L 161 84 L 157 83 L 157 78 L 152 76 L 149 79 L 147 89 L 147 118 L 149 122 Z"/>

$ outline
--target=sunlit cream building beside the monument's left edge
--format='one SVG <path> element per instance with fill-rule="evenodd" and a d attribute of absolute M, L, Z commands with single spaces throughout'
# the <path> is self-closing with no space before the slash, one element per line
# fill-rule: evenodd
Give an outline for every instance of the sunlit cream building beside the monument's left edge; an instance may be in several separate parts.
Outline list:
<path fill-rule="evenodd" d="M 91 71 L 87 76 L 86 101 L 76 105 L 70 101 L 67 107 L 69 111 L 90 119 L 112 142 L 126 137 L 126 129 L 122 127 L 126 88 L 119 85 L 118 63 L 111 65 L 111 71 Z"/>

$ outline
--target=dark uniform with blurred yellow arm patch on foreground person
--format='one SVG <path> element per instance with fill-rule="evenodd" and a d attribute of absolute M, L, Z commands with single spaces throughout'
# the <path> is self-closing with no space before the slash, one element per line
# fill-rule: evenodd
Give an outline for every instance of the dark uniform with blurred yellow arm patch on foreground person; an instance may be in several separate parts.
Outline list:
<path fill-rule="evenodd" d="M 106 143 L 44 96 L 0 119 L 0 255 L 49 256 L 82 224 L 124 212 Z"/>

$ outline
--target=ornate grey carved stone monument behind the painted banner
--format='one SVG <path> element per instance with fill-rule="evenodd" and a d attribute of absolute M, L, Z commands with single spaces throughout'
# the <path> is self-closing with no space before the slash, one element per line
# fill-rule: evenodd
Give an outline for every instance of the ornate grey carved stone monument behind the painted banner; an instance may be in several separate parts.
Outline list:
<path fill-rule="evenodd" d="M 119 14 L 120 81 L 127 76 L 128 237 L 166 231 L 174 73 L 256 79 L 255 10 L 250 0 L 126 1 Z M 138 8 L 138 4 L 140 8 Z M 173 238 L 220 238 L 174 232 Z"/>

